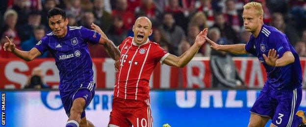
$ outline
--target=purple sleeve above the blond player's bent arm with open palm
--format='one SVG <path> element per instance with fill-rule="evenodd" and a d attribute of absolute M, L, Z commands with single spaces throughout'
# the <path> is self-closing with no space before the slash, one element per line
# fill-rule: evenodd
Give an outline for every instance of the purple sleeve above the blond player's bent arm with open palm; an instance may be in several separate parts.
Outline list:
<path fill-rule="evenodd" d="M 285 52 L 291 51 L 287 37 L 279 32 L 272 32 L 270 34 L 269 42 L 275 44 L 275 50 L 280 57 L 282 57 Z"/>

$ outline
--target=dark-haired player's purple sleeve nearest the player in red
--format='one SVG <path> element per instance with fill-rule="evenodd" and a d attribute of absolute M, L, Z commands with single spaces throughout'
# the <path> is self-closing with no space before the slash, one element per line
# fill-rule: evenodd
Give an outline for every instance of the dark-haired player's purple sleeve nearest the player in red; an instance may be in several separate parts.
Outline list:
<path fill-rule="evenodd" d="M 81 32 L 82 38 L 85 39 L 86 41 L 92 44 L 99 43 L 101 35 L 98 32 L 89 30 L 85 27 L 82 27 L 80 32 Z"/>

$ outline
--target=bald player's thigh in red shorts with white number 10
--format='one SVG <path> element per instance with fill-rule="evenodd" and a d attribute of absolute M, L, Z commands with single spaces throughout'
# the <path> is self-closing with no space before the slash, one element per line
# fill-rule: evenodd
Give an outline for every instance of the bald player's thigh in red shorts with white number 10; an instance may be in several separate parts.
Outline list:
<path fill-rule="evenodd" d="M 150 107 L 150 100 L 144 100 L 137 103 L 137 109 L 128 120 L 134 127 L 153 127 L 153 118 Z"/>

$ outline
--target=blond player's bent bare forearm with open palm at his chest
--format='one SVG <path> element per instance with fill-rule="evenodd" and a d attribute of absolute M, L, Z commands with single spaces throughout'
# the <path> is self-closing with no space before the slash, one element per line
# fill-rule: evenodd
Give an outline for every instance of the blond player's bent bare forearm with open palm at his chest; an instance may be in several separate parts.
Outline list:
<path fill-rule="evenodd" d="M 275 49 L 270 49 L 268 52 L 268 56 L 262 54 L 265 62 L 270 66 L 285 66 L 294 62 L 294 56 L 290 51 L 285 52 L 280 59 L 279 55 L 277 55 L 277 51 Z"/>

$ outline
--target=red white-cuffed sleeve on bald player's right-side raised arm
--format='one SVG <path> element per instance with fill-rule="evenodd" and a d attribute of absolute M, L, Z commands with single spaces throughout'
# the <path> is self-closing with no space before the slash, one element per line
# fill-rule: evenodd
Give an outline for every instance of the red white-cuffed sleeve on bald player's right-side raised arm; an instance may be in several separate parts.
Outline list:
<path fill-rule="evenodd" d="M 170 55 L 170 53 L 168 53 L 158 44 L 154 45 L 152 50 L 153 50 L 153 54 L 152 54 L 153 59 L 161 64 Z"/>

